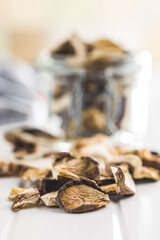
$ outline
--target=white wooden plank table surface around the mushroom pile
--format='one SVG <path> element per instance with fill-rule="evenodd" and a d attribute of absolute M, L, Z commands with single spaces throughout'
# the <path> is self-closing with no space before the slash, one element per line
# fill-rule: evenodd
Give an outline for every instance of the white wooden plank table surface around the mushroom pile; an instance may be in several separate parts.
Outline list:
<path fill-rule="evenodd" d="M 143 145 L 160 151 L 160 74 L 157 72 L 150 95 L 149 127 Z M 1 131 L 0 157 L 6 158 L 9 151 Z M 10 188 L 18 185 L 17 178 L 0 178 L 0 240 L 160 239 L 160 181 L 138 184 L 135 196 L 83 214 L 44 206 L 12 212 L 7 197 Z"/>

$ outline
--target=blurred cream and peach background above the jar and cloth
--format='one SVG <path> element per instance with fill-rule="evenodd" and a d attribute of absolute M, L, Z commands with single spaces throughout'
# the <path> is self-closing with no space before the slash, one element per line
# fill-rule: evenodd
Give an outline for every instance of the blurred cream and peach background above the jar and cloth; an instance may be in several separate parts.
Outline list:
<path fill-rule="evenodd" d="M 85 39 L 107 37 L 160 60 L 158 0 L 0 0 L 0 51 L 27 61 L 76 31 Z"/>

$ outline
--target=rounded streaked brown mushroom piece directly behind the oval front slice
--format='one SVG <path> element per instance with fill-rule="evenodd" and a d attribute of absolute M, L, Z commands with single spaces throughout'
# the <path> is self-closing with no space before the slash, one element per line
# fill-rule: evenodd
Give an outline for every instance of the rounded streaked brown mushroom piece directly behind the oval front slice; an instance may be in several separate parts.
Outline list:
<path fill-rule="evenodd" d="M 56 168 L 53 168 L 53 176 Z M 98 162 L 91 157 L 81 157 L 80 159 L 70 160 L 65 167 L 57 170 L 57 179 L 67 182 L 72 179 L 89 178 L 98 179 L 100 168 Z"/>

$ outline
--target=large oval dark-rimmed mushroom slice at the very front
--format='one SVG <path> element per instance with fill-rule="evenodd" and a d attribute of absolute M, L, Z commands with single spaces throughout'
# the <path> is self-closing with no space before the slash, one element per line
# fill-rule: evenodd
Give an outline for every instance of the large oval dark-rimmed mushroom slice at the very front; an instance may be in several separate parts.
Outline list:
<path fill-rule="evenodd" d="M 82 213 L 92 211 L 109 204 L 108 195 L 89 179 L 77 179 L 60 188 L 57 201 L 64 211 Z"/>

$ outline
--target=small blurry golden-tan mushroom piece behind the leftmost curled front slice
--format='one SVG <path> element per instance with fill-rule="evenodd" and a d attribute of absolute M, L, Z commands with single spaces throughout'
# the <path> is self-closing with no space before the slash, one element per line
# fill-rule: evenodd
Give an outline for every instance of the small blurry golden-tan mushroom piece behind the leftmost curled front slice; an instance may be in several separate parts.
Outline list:
<path fill-rule="evenodd" d="M 42 178 L 46 177 L 51 177 L 51 171 L 48 169 L 27 169 L 23 174 L 22 174 L 22 179 L 23 180 L 28 180 L 31 182 L 37 181 Z"/>

